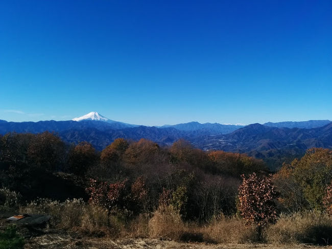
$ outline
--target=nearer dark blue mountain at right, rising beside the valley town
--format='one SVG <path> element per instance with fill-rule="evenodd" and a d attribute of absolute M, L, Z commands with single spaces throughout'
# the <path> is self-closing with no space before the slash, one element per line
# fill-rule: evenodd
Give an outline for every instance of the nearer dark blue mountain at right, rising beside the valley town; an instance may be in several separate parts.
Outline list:
<path fill-rule="evenodd" d="M 277 168 L 284 161 L 302 156 L 309 148 L 332 149 L 332 122 L 310 129 L 250 124 L 229 134 L 196 138 L 192 143 L 203 150 L 247 153 Z"/>

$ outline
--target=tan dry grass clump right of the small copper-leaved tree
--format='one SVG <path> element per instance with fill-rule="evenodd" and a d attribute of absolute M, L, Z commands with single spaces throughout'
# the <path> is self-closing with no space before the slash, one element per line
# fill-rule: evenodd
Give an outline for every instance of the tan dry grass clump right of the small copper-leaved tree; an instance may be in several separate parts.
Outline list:
<path fill-rule="evenodd" d="M 265 237 L 271 243 L 332 243 L 332 216 L 318 211 L 281 215 Z"/>

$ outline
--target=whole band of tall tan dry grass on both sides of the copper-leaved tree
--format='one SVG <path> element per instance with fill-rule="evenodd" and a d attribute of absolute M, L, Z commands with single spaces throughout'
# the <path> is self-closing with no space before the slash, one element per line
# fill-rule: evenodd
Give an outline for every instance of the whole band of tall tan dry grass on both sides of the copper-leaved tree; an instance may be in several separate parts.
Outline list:
<path fill-rule="evenodd" d="M 77 199 L 65 202 L 38 199 L 22 207 L 20 212 L 51 215 L 53 228 L 90 238 L 163 238 L 221 244 L 257 241 L 255 229 L 246 227 L 239 218 L 221 215 L 205 225 L 184 223 L 172 206 L 159 207 L 152 218 L 141 214 L 132 220 L 109 216 L 105 209 Z M 329 244 L 332 242 L 332 217 L 314 211 L 281 215 L 276 224 L 266 229 L 264 239 L 274 244 Z"/>

